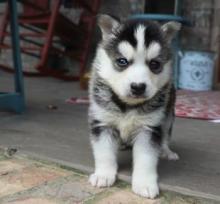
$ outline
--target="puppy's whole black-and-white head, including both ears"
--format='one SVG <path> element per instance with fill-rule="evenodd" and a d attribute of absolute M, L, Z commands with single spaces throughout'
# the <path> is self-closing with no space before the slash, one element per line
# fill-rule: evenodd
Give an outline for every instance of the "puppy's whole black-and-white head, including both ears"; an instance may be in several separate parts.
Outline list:
<path fill-rule="evenodd" d="M 119 98 L 138 104 L 152 98 L 172 76 L 170 43 L 180 25 L 149 21 L 120 23 L 101 15 L 102 43 L 94 61 Z"/>

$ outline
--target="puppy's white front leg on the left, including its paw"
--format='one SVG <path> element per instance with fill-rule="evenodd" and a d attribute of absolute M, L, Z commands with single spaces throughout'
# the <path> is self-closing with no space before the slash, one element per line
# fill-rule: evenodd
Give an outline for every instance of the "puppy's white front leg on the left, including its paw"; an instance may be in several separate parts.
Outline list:
<path fill-rule="evenodd" d="M 96 187 L 109 187 L 114 184 L 117 174 L 118 143 L 112 131 L 105 129 L 91 138 L 95 160 L 95 172 L 90 175 L 89 182 Z"/>

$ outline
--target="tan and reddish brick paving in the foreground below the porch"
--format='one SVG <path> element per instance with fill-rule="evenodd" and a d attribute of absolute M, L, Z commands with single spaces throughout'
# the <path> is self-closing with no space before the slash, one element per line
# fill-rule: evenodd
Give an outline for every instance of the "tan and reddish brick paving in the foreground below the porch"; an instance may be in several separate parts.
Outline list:
<path fill-rule="evenodd" d="M 163 192 L 155 200 L 141 198 L 130 186 L 93 188 L 88 177 L 59 164 L 33 160 L 26 155 L 8 157 L 0 149 L 1 204 L 193 204 L 214 201 Z"/>

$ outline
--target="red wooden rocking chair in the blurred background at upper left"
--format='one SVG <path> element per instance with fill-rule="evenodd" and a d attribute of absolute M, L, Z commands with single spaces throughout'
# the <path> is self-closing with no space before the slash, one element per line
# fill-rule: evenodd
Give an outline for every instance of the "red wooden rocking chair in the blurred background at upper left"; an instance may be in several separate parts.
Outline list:
<path fill-rule="evenodd" d="M 78 80 L 86 69 L 88 52 L 91 44 L 92 33 L 95 27 L 95 20 L 100 0 L 72 0 L 73 7 L 83 8 L 80 23 L 74 24 L 60 12 L 61 0 L 20 0 L 23 5 L 23 12 L 19 16 L 19 25 L 25 28 L 20 33 L 20 41 L 28 46 L 21 46 L 24 54 L 37 57 L 36 69 L 39 71 L 25 71 L 26 75 L 50 75 L 65 80 Z M 5 43 L 7 32 L 8 8 L 3 16 L 0 30 L 0 49 L 11 49 Z M 57 47 L 57 38 L 59 44 Z M 39 43 L 42 39 L 43 43 Z M 36 54 L 38 53 L 38 54 Z M 56 69 L 50 65 L 50 56 L 70 57 L 79 61 L 79 74 L 76 76 L 66 75 L 62 69 Z M 8 67 L 6 70 L 13 71 Z"/>

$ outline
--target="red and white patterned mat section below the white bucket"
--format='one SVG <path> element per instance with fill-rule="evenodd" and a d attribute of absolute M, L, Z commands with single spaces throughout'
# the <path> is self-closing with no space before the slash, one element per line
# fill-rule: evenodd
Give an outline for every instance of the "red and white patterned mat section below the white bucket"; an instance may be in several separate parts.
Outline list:
<path fill-rule="evenodd" d="M 220 119 L 220 91 L 177 91 L 176 116 L 203 120 Z"/>

